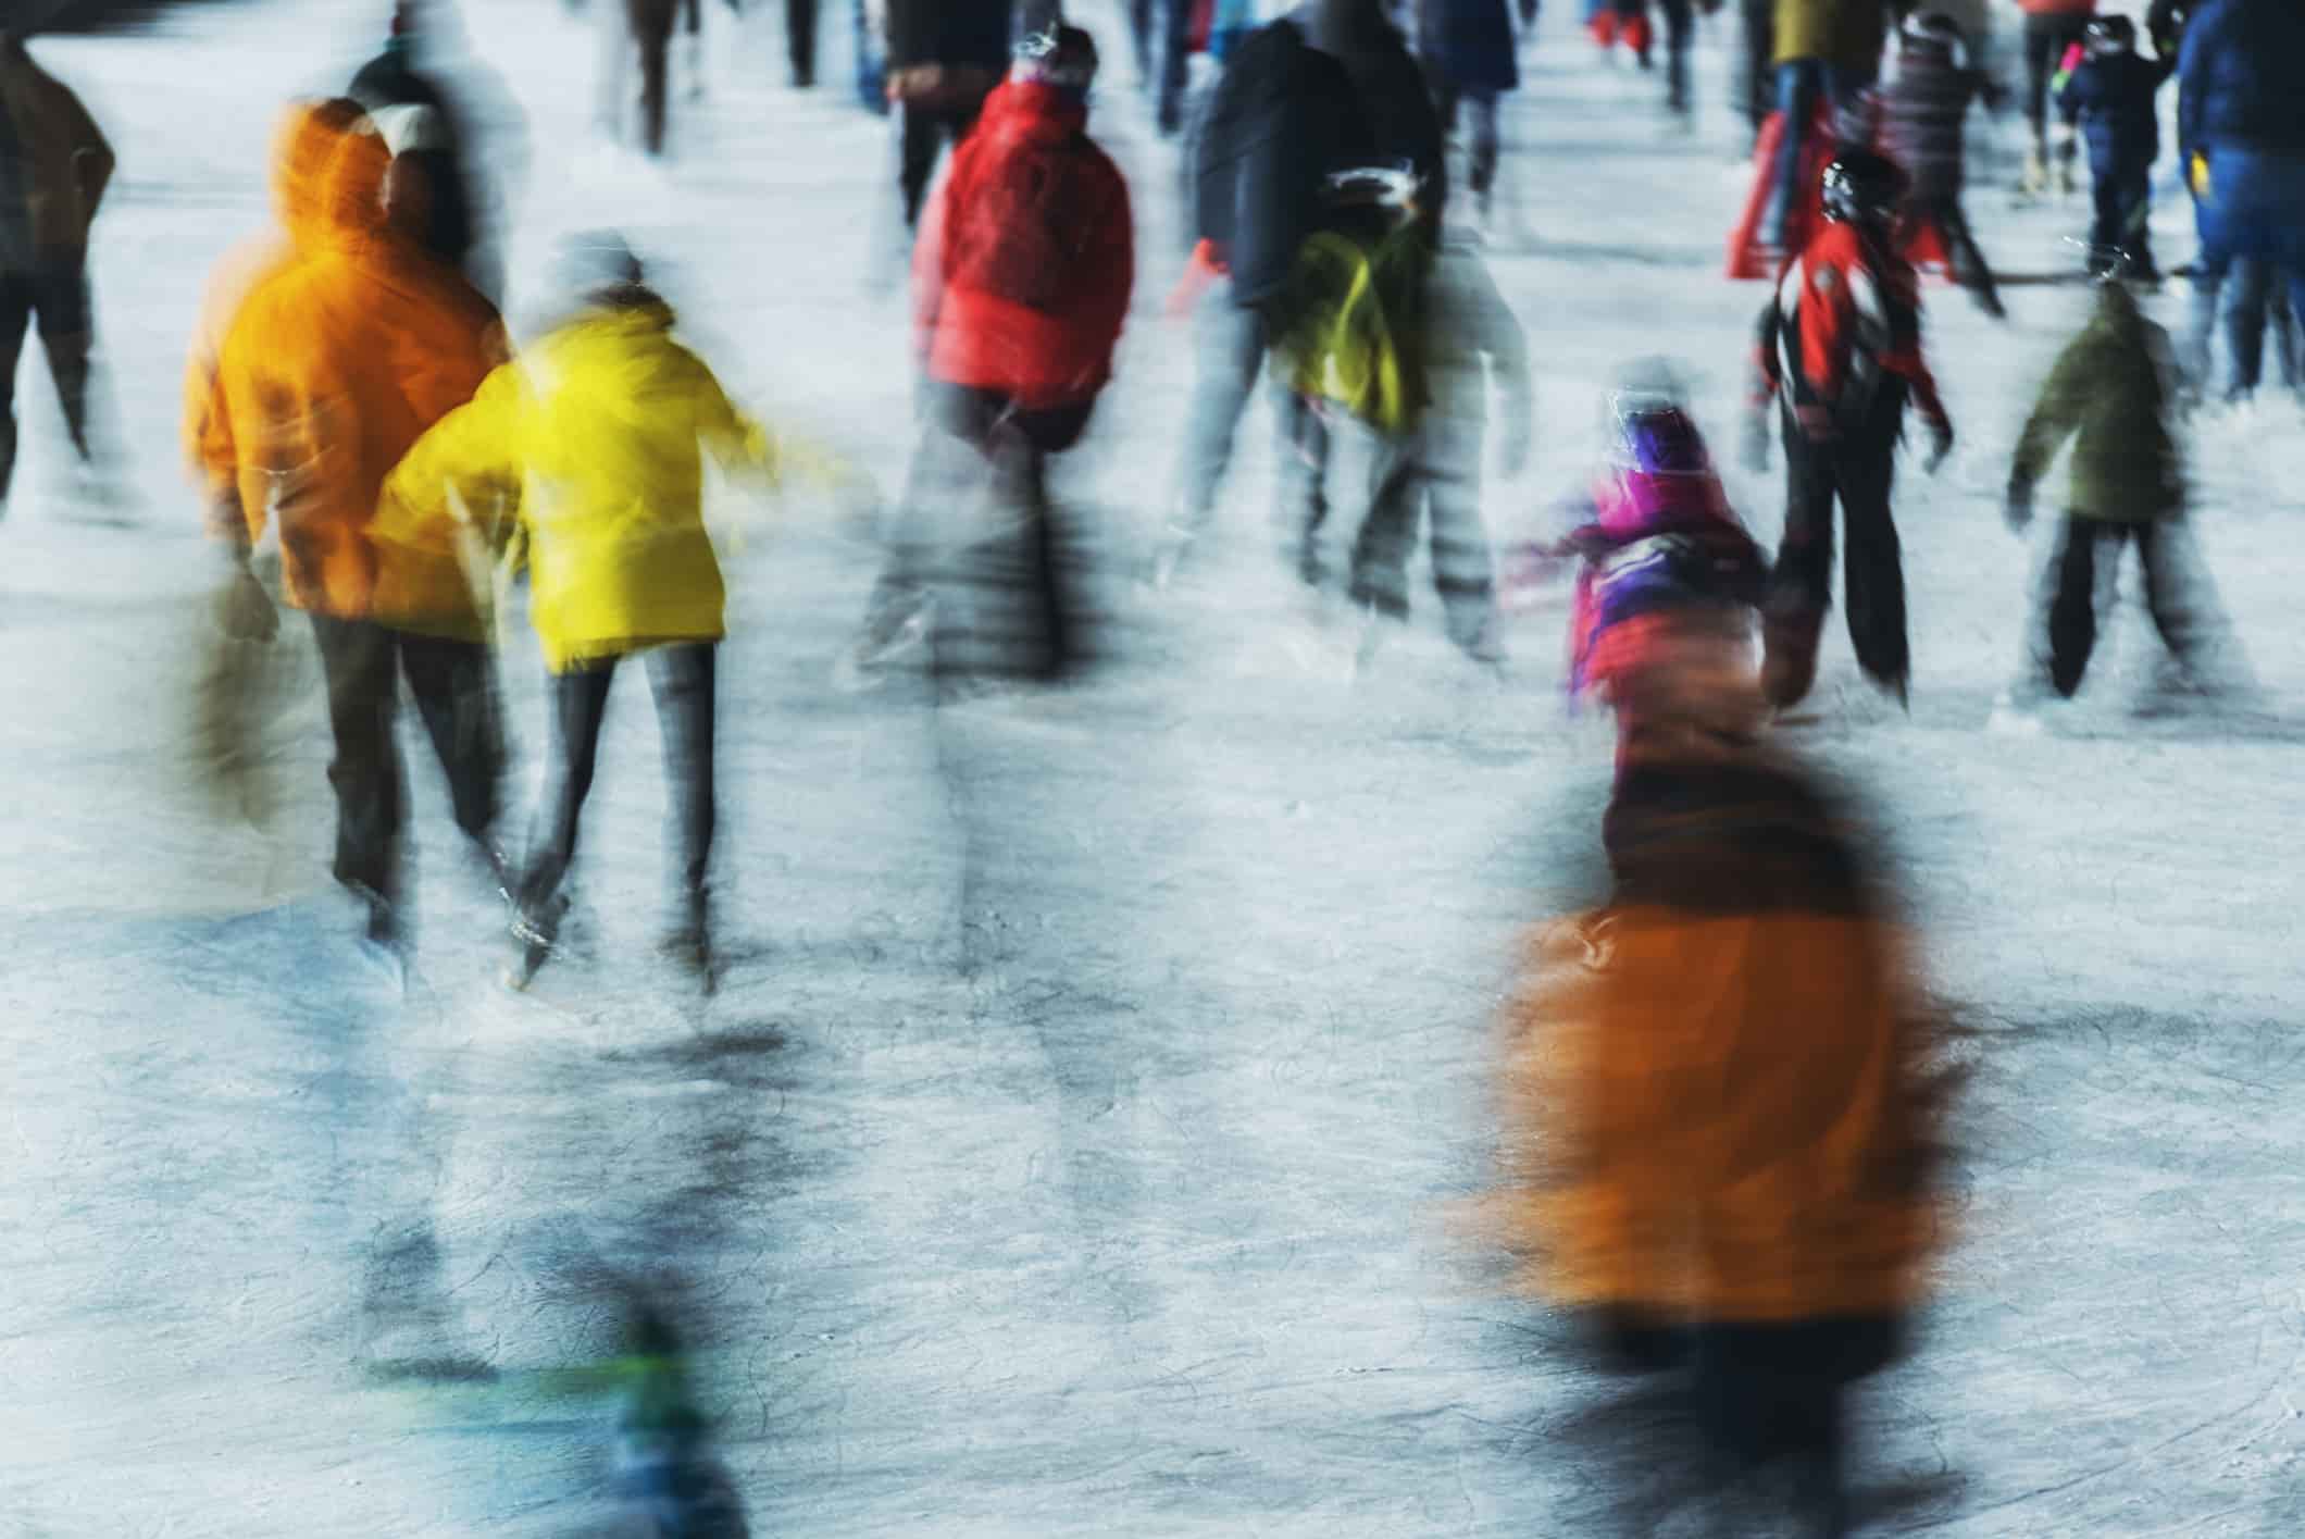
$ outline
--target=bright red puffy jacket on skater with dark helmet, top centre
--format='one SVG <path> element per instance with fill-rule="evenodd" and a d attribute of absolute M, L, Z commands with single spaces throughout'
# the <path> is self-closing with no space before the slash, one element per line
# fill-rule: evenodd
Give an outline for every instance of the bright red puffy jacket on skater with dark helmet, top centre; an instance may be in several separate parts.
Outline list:
<path fill-rule="evenodd" d="M 1129 189 L 1088 108 L 1007 81 L 952 157 L 913 252 L 929 376 L 1067 406 L 1111 378 L 1136 281 Z"/>

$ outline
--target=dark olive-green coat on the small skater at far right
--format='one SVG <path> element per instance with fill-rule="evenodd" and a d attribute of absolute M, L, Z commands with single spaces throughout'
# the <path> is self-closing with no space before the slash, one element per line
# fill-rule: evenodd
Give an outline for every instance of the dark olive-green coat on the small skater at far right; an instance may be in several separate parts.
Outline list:
<path fill-rule="evenodd" d="M 2146 524 L 2185 510 L 2185 466 L 2169 434 L 2174 399 L 2169 332 L 2118 286 L 2065 344 L 2017 441 L 2010 485 L 2031 489 L 2056 450 L 2072 445 L 2068 512 L 2077 519 Z"/>

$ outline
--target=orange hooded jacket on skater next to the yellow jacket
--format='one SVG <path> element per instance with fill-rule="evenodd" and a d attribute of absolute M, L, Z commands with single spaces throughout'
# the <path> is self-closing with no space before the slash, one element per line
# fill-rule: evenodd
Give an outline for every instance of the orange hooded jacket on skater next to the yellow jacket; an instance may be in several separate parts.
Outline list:
<path fill-rule="evenodd" d="M 408 445 L 505 358 L 496 309 L 385 224 L 390 164 L 369 127 L 337 143 L 309 238 L 226 332 L 201 464 L 251 542 L 279 521 L 293 605 L 479 641 L 447 533 L 390 563 L 366 533 Z"/>

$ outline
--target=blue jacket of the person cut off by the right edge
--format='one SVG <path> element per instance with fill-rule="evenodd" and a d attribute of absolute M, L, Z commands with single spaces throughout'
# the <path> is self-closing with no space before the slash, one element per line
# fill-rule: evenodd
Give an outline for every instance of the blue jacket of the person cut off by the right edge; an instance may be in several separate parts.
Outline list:
<path fill-rule="evenodd" d="M 2176 143 L 2305 150 L 2305 7 L 2298 0 L 2208 0 L 2178 53 Z"/>

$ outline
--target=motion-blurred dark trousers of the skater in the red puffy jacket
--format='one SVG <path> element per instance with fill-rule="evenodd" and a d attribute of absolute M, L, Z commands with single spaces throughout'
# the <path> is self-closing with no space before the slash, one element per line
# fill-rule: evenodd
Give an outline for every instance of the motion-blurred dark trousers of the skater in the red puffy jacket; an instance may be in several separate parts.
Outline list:
<path fill-rule="evenodd" d="M 1081 658 L 1081 616 L 1067 579 L 1060 515 L 1049 501 L 1049 455 L 1081 441 L 1093 401 L 1019 408 L 996 390 L 927 385 L 927 431 L 906 475 L 899 526 L 874 584 L 867 635 L 885 641 L 920 600 L 947 600 L 936 632 L 938 667 L 1058 676 Z M 991 478 L 993 505 L 1017 519 L 1021 577 L 996 551 L 945 558 L 936 524 Z M 1010 593 L 1019 588 L 1021 598 Z M 1026 630 L 1019 644 L 1017 625 Z"/>

